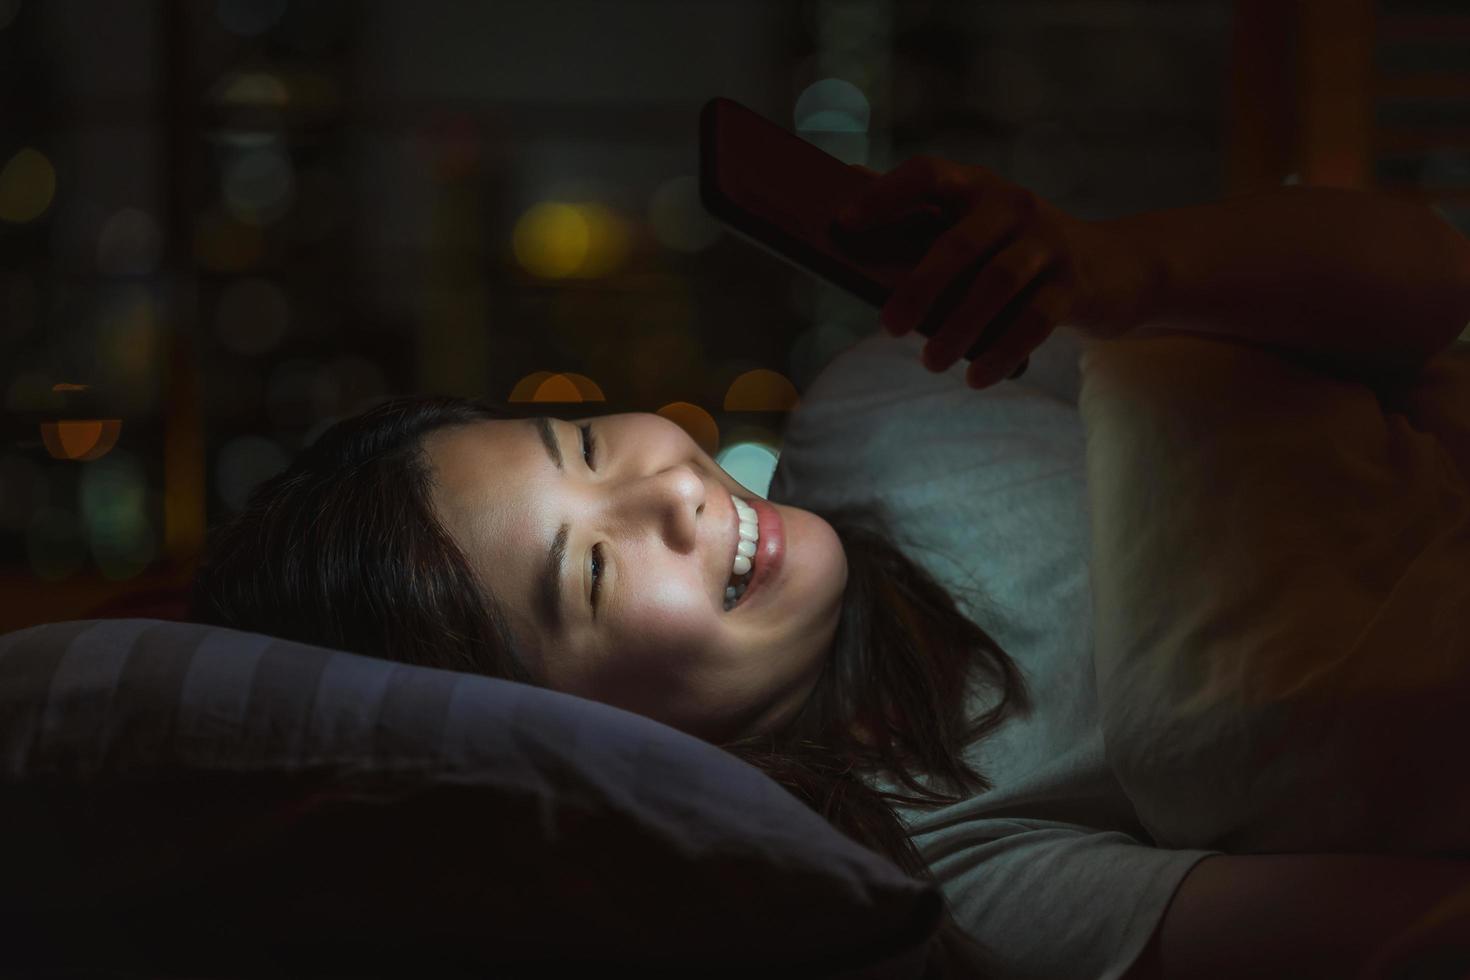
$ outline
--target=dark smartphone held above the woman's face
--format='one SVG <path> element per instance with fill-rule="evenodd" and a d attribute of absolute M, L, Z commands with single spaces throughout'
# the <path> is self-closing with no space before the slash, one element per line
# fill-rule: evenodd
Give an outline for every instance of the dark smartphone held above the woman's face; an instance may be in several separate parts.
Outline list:
<path fill-rule="evenodd" d="M 954 219 L 916 209 L 881 229 L 845 232 L 833 216 L 876 178 L 731 98 L 700 110 L 700 200 L 738 237 L 882 309 Z M 933 336 L 964 297 L 945 291 L 919 332 Z M 979 344 L 964 359 L 973 360 Z M 1025 373 L 1029 359 L 1011 378 Z"/>

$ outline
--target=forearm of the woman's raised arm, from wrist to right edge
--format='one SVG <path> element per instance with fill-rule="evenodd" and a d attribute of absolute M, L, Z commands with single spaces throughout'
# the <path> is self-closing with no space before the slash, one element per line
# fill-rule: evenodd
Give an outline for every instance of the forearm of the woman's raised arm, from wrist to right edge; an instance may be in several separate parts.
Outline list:
<path fill-rule="evenodd" d="M 1408 200 L 1291 187 L 1102 223 L 1152 272 L 1126 335 L 1198 331 L 1391 367 L 1470 323 L 1470 239 Z"/>

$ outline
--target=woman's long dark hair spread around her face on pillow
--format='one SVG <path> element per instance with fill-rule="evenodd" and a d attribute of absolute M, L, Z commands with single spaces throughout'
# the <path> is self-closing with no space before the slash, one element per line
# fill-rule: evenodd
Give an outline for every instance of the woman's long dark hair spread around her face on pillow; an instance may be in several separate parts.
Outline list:
<path fill-rule="evenodd" d="M 537 683 L 504 608 L 435 517 L 422 448 L 438 429 L 516 417 L 484 400 L 425 395 L 332 425 L 212 530 L 190 619 Z M 964 761 L 964 746 L 1029 707 L 1025 682 L 989 635 L 895 547 L 881 508 L 813 513 L 847 555 L 832 655 L 784 729 L 720 748 L 858 843 L 933 880 L 891 804 L 932 808 L 989 789 Z M 997 698 L 970 718 L 978 685 Z M 881 777 L 908 792 L 867 782 Z M 947 915 L 931 976 L 995 976 L 986 959 Z"/>

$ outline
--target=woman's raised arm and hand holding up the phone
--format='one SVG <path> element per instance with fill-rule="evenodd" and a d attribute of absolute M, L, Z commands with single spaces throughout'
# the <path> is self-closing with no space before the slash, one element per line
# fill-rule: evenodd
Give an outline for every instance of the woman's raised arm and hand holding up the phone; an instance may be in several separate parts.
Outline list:
<path fill-rule="evenodd" d="M 838 213 L 854 241 L 914 209 L 953 225 L 894 287 L 894 336 L 929 325 L 923 363 L 972 357 L 986 388 L 1066 323 L 1092 339 L 1226 335 L 1369 375 L 1417 372 L 1470 322 L 1470 239 L 1386 194 L 1280 188 L 1082 220 L 979 166 L 904 160 Z"/>

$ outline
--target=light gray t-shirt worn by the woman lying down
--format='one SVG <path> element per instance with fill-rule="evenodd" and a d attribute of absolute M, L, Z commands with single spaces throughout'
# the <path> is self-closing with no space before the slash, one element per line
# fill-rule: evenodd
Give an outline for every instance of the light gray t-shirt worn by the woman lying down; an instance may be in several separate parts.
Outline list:
<path fill-rule="evenodd" d="M 994 788 L 900 817 L 956 918 L 1010 973 L 1119 977 L 1189 868 L 1220 852 L 1152 846 L 1104 757 L 1076 407 L 1085 341 L 1054 332 L 1025 378 L 986 391 L 964 385 L 964 361 L 923 367 L 923 342 L 878 334 L 823 370 L 788 419 L 769 498 L 882 501 L 898 547 L 1020 667 L 1033 710 L 967 752 Z"/>

